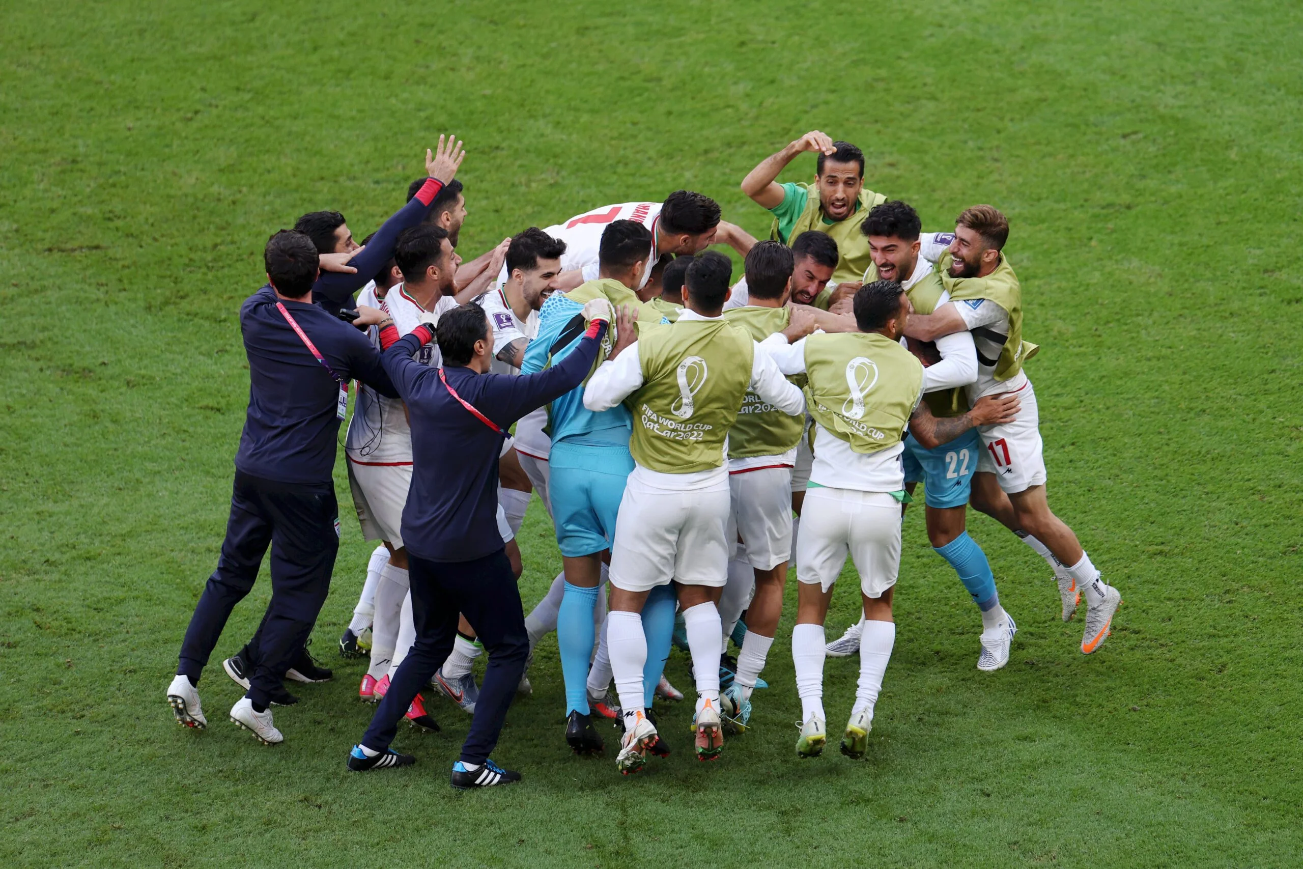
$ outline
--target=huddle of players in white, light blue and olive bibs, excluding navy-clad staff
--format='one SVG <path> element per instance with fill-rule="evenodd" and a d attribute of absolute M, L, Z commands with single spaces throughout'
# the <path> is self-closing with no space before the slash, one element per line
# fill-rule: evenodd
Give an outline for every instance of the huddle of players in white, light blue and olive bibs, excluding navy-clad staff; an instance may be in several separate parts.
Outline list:
<path fill-rule="evenodd" d="M 817 154 L 814 182 L 778 184 L 801 152 Z M 592 336 L 590 321 L 609 323 L 584 382 L 506 439 L 498 525 L 519 577 L 513 538 L 532 491 L 547 509 L 563 571 L 525 618 L 530 661 L 555 629 L 564 739 L 580 753 L 602 750 L 593 717 L 622 720 L 624 774 L 668 754 L 653 704 L 683 698 L 662 672 L 674 644 L 692 659 L 698 760 L 718 758 L 726 731 L 764 717 L 753 692 L 765 685 L 794 560 L 796 752 L 816 757 L 827 740 L 825 658 L 857 649 L 840 750 L 861 757 L 895 644 L 902 516 L 919 482 L 929 542 L 980 614 L 979 670 L 1009 662 L 1018 628 L 966 532 L 969 503 L 1053 568 L 1063 620 L 1084 594 L 1084 654 L 1104 644 L 1121 601 L 1046 500 L 1036 393 L 1023 371 L 1037 347 L 1023 340 L 1005 216 L 979 205 L 952 231 L 925 233 L 909 205 L 864 188 L 859 149 L 817 130 L 761 162 L 741 188 L 774 216 L 766 241 L 721 221 L 710 198 L 679 190 L 663 203 L 530 227 L 450 264 L 440 251 L 455 248 L 465 219 L 452 182 L 357 298 L 396 327 L 370 330 L 380 349 L 480 305 L 493 371 L 507 377 L 562 363 Z M 713 244 L 744 257 L 740 279 L 706 250 Z M 439 348 L 426 344 L 416 358 L 439 366 Z M 340 649 L 370 657 L 360 694 L 379 700 L 416 637 L 401 539 L 412 434 L 400 399 L 360 388 L 347 456 L 362 530 L 382 545 Z M 863 618 L 827 642 L 847 555 Z M 463 618 L 457 633 L 430 687 L 474 711 L 476 625 Z M 730 638 L 736 661 L 724 654 Z M 530 691 L 525 666 L 521 693 Z M 435 727 L 421 694 L 407 715 Z M 407 758 L 361 748 L 354 769 Z M 504 771 L 489 767 L 481 775 L 498 783 Z"/>

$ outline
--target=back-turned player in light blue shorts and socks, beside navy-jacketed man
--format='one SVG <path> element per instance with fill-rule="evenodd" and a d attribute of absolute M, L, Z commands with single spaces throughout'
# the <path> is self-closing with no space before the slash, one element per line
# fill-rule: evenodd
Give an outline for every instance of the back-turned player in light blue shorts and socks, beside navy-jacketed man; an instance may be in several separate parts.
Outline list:
<path fill-rule="evenodd" d="M 602 232 L 601 270 L 567 293 L 549 298 L 539 311 L 538 337 L 525 349 L 524 374 L 542 371 L 573 352 L 584 332 L 580 317 L 584 305 L 606 298 L 615 306 L 638 306 L 635 288 L 652 255 L 653 233 L 635 220 L 614 220 Z M 632 327 L 631 327 L 632 328 Z M 607 341 L 598 352 L 605 358 Z M 595 634 L 594 607 L 606 581 L 602 554 L 615 537 L 616 512 L 624 481 L 633 469 L 629 455 L 629 410 L 624 406 L 589 410 L 584 405 L 582 384 L 555 399 L 547 409 L 552 449 L 549 495 L 556 543 L 562 551 L 564 591 L 556 615 L 556 645 L 566 680 L 566 743 L 579 753 L 601 750 L 602 739 L 592 722 L 589 659 Z M 650 633 L 668 654 L 674 629 L 674 595 L 658 595 L 649 607 Z M 661 661 L 648 662 L 648 679 L 659 681 Z M 610 680 L 610 676 L 606 676 Z M 605 694 L 605 684 L 601 688 Z M 642 700 L 640 698 L 640 702 Z"/>

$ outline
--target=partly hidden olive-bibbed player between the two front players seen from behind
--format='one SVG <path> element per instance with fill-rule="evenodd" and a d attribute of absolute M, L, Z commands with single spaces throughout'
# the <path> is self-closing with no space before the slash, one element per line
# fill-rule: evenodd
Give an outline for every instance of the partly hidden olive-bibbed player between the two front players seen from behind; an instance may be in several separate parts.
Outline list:
<path fill-rule="evenodd" d="M 724 311 L 724 322 L 741 328 L 756 341 L 787 330 L 794 317 L 797 319 L 796 332 L 808 332 L 805 324 L 810 315 L 787 305 L 792 259 L 791 249 L 778 241 L 762 241 L 752 248 L 744 264 L 751 304 Z M 747 636 L 737 654 L 737 670 L 721 704 L 726 718 L 743 727 L 751 718 L 751 696 L 783 611 L 783 586 L 792 546 L 792 466 L 796 443 L 804 430 L 804 416 L 794 417 L 766 403 L 754 391 L 748 391 L 737 421 L 728 433 L 731 525 L 741 537 L 744 551 L 740 555 L 747 560 L 745 569 L 754 572 L 756 590 L 747 610 Z M 745 606 L 744 599 L 724 612 L 721 605 L 723 636 L 732 632 L 741 606 Z"/>

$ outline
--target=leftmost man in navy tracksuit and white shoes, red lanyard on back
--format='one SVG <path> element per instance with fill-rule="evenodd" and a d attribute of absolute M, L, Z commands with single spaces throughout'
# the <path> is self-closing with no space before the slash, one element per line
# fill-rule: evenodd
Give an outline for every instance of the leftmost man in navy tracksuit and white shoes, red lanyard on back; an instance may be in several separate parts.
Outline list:
<path fill-rule="evenodd" d="M 283 736 L 267 707 L 302 649 L 330 588 L 339 550 L 335 439 L 360 379 L 396 396 L 366 335 L 311 304 L 317 248 L 281 229 L 263 251 L 267 285 L 240 307 L 249 357 L 249 410 L 236 453 L 231 519 L 218 569 L 199 597 L 181 642 L 177 676 L 167 697 L 179 723 L 206 727 L 195 685 L 231 610 L 253 588 L 271 546 L 271 602 L 261 629 L 258 666 L 231 720 L 266 744 Z M 362 309 L 358 324 L 379 322 Z"/>

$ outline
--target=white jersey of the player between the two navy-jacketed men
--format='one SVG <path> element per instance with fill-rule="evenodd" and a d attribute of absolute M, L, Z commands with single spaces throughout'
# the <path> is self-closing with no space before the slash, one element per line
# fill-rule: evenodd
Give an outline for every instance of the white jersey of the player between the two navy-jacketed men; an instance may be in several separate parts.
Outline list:
<path fill-rule="evenodd" d="M 457 306 L 451 296 L 435 302 L 433 311 L 426 311 L 412 298 L 403 284 L 391 287 L 383 300 L 375 298 L 375 285 L 365 288 L 357 297 L 358 305 L 379 307 L 394 318 L 399 336 L 407 335 L 423 321 L 437 322 L 439 315 Z M 380 334 L 374 326 L 367 336 L 377 349 L 380 349 Z M 426 344 L 413 357 L 422 365 L 438 367 L 443 360 L 439 348 Z M 354 463 L 364 464 L 412 464 L 412 429 L 408 426 L 407 410 L 401 399 L 390 399 L 369 386 L 358 382 L 357 404 L 353 418 L 348 423 L 344 449 Z"/>

